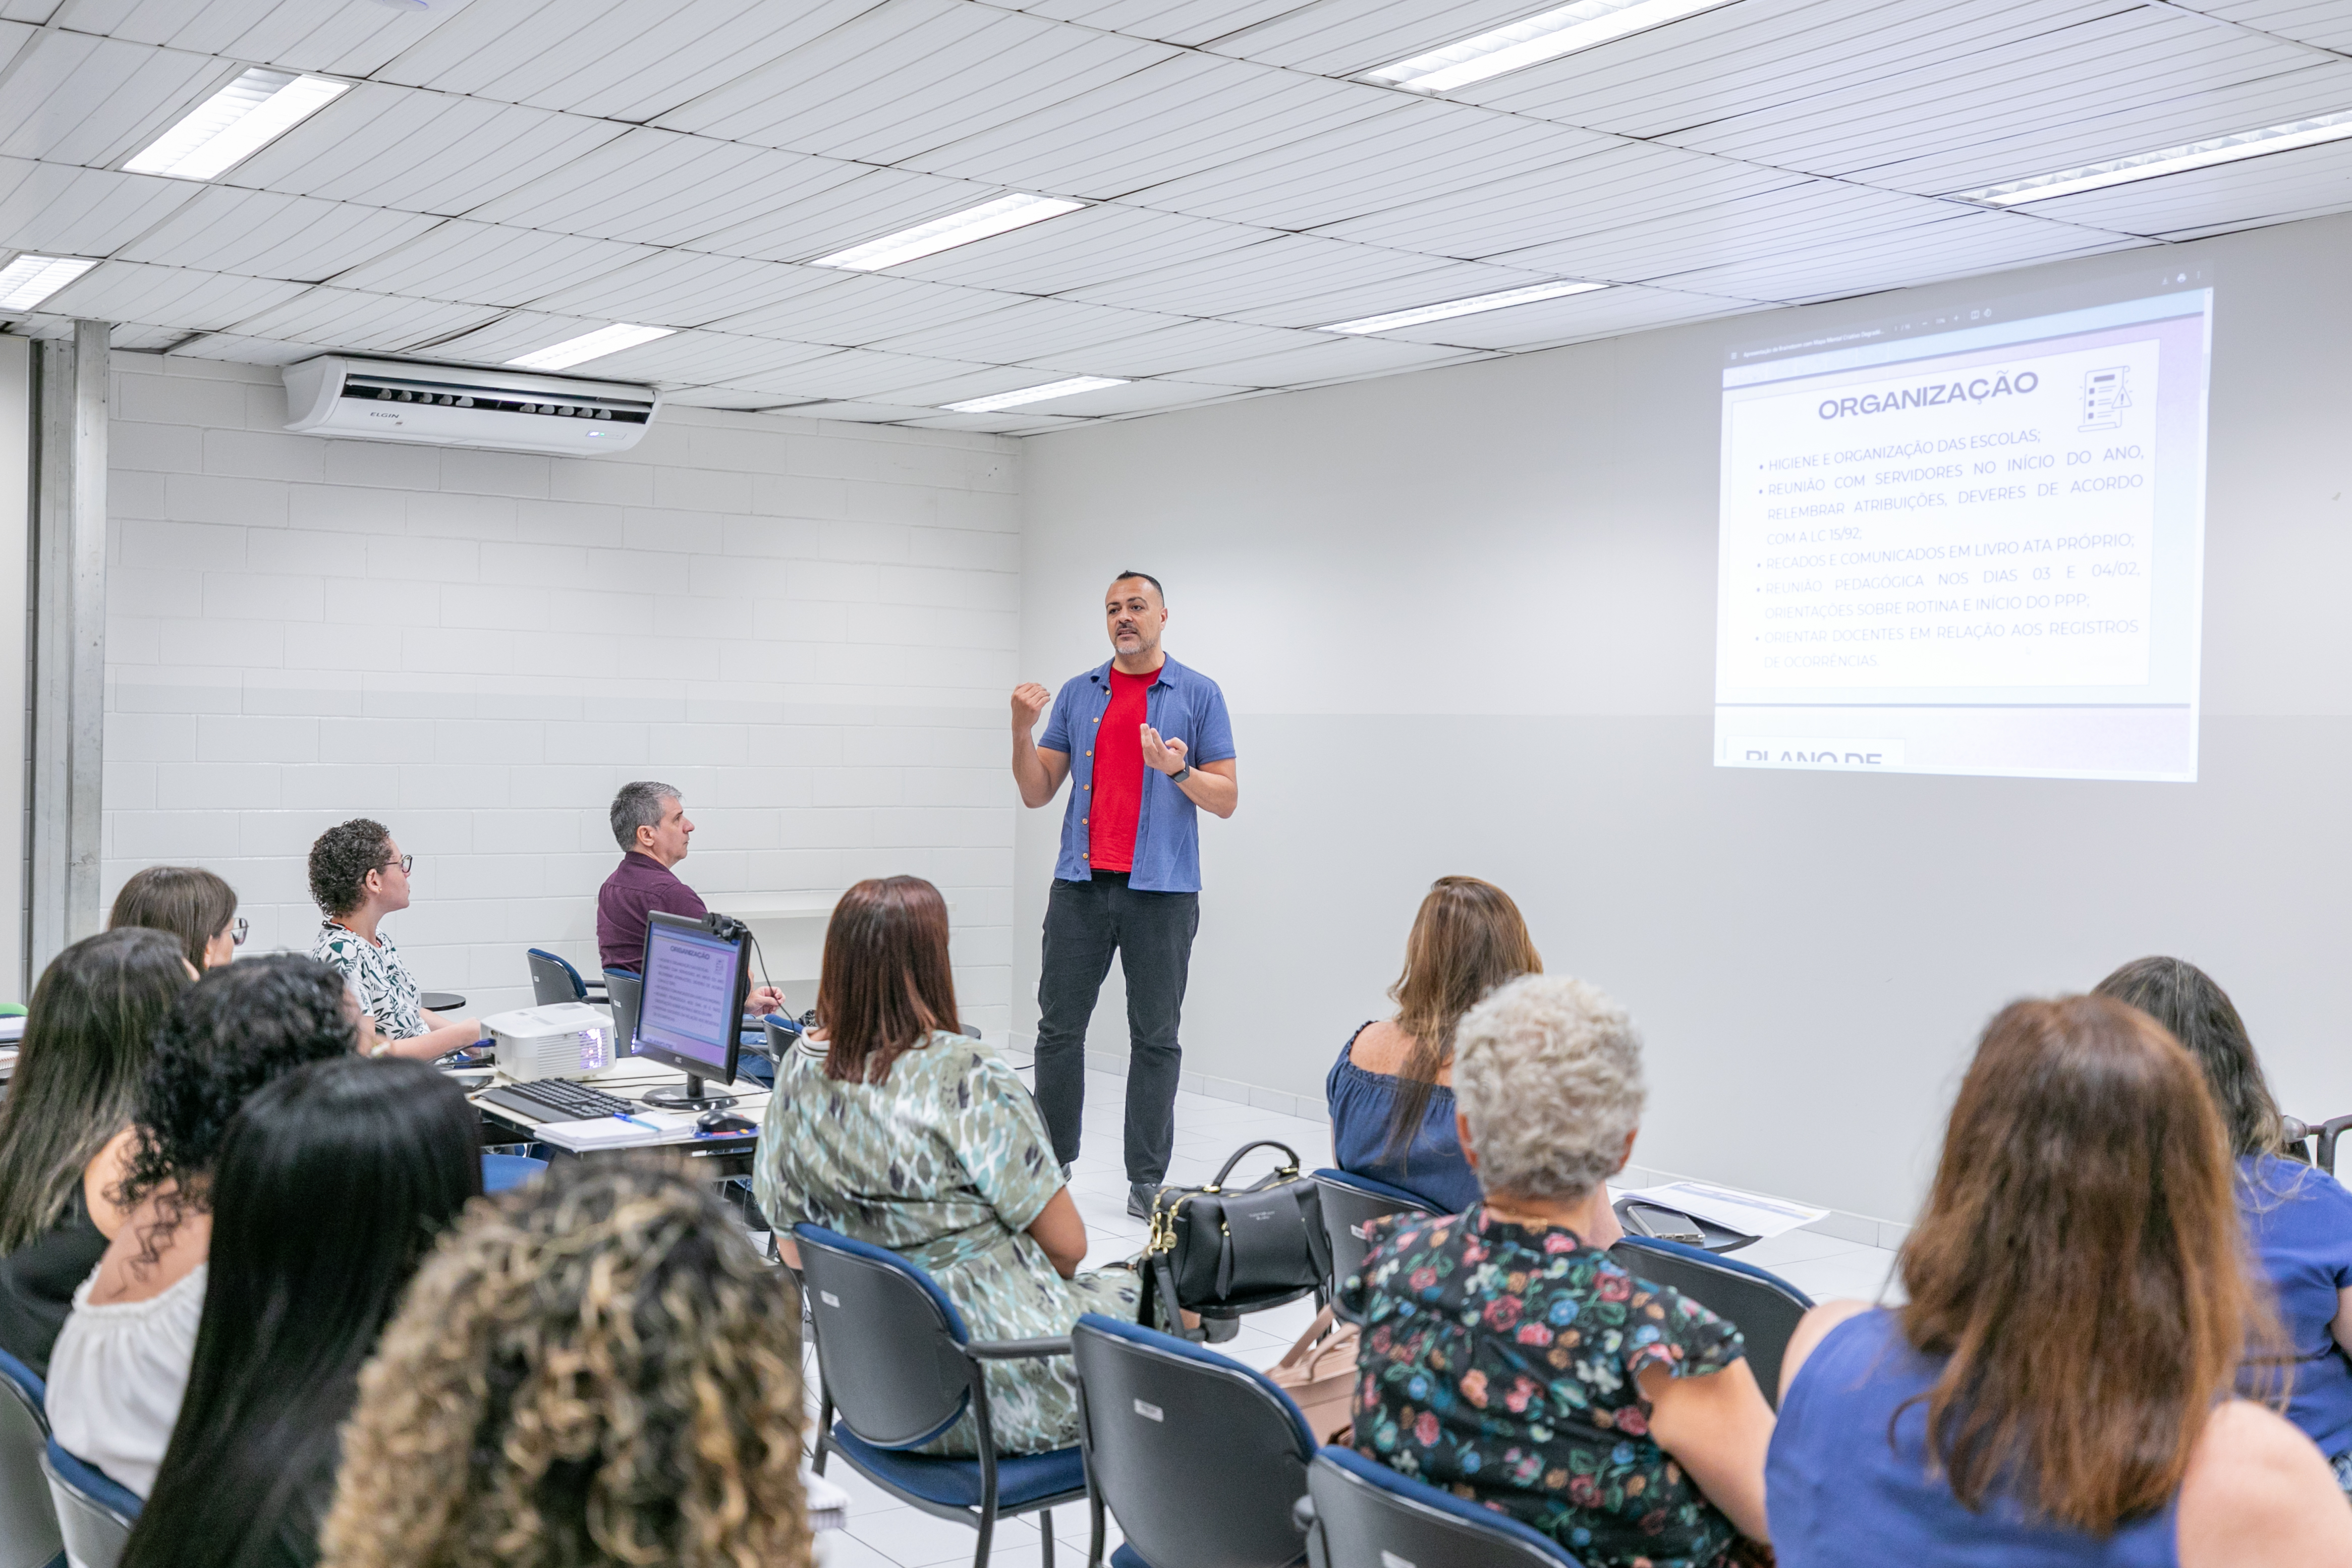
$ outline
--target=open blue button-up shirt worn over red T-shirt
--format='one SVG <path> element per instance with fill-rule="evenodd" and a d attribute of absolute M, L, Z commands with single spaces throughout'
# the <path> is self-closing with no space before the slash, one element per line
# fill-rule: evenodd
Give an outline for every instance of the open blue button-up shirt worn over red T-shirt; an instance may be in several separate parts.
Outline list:
<path fill-rule="evenodd" d="M 1054 877 L 1084 882 L 1087 865 L 1087 785 L 1094 783 L 1094 748 L 1110 708 L 1110 661 L 1084 675 L 1073 675 L 1054 698 L 1037 745 L 1070 757 L 1070 804 L 1061 813 L 1061 858 Z M 1225 762 L 1232 757 L 1232 719 L 1225 717 L 1225 693 L 1200 670 L 1185 670 L 1174 658 L 1162 661 L 1160 679 L 1143 696 L 1145 724 L 1167 741 L 1185 743 L 1185 762 Z M 1117 745 L 1143 745 L 1138 736 Z M 1143 769 L 1143 809 L 1136 816 L 1136 865 L 1127 886 L 1138 893 L 1200 891 L 1200 806 L 1169 783 L 1155 766 Z"/>

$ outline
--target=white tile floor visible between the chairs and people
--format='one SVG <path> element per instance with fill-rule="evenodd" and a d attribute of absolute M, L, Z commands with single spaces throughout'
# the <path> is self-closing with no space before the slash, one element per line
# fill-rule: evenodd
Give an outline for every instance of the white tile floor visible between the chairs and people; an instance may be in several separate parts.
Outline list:
<path fill-rule="evenodd" d="M 1127 1215 L 1122 1110 L 1124 1084 L 1110 1074 L 1089 1072 L 1087 1143 L 1070 1173 L 1070 1197 L 1077 1199 L 1077 1211 L 1087 1218 L 1087 1234 L 1094 1241 L 1094 1248 L 1087 1253 L 1087 1267 L 1134 1258 L 1143 1251 L 1143 1220 Z M 1251 1138 L 1279 1138 L 1298 1152 L 1308 1171 L 1331 1164 L 1331 1128 L 1324 1121 L 1305 1121 L 1232 1100 L 1181 1093 L 1176 1095 L 1176 1159 L 1169 1166 L 1169 1182 L 1207 1182 L 1216 1175 L 1225 1157 Z M 1258 1175 L 1270 1166 L 1272 1152 L 1261 1150 L 1249 1157 L 1244 1171 Z M 1832 1295 L 1872 1300 L 1886 1286 L 1889 1267 L 1893 1265 L 1893 1253 L 1889 1251 L 1813 1232 L 1792 1232 L 1771 1241 L 1757 1241 L 1740 1251 L 1738 1258 L 1771 1269 L 1813 1300 Z M 1305 1300 L 1275 1312 L 1261 1312 L 1244 1319 L 1242 1333 L 1216 1349 L 1249 1366 L 1272 1366 L 1312 1316 L 1315 1305 Z M 814 1375 L 811 1363 L 811 1382 Z M 851 1495 L 849 1528 L 821 1537 L 826 1544 L 826 1568 L 946 1568 L 948 1563 L 971 1561 L 974 1533 L 964 1526 L 906 1507 L 889 1493 L 861 1481 L 847 1462 L 835 1460 L 828 1465 L 826 1479 Z M 1061 1568 L 1077 1568 L 1087 1561 L 1084 1505 L 1054 1512 L 1054 1561 Z M 1103 1547 L 1105 1556 L 1117 1540 L 1117 1526 L 1112 1523 Z M 997 1568 L 1033 1568 L 1042 1559 L 1040 1544 L 1042 1537 L 1035 1519 L 1004 1521 L 997 1526 L 990 1561 Z"/>

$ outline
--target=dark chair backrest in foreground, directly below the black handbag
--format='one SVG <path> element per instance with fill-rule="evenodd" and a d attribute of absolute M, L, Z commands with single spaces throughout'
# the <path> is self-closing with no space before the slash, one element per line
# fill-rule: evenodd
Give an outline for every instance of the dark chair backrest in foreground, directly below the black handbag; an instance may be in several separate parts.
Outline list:
<path fill-rule="evenodd" d="M 1094 1312 L 1070 1331 L 1070 1354 L 1087 1481 L 1143 1561 L 1298 1561 L 1291 1507 L 1308 1490 L 1315 1434 L 1289 1394 L 1214 1349 Z"/>

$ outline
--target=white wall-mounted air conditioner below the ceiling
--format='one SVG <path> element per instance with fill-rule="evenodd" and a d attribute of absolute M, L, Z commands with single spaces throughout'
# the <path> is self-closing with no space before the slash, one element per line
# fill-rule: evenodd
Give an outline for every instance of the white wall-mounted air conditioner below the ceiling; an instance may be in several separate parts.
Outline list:
<path fill-rule="evenodd" d="M 626 381 L 346 360 L 285 367 L 287 430 L 372 442 L 496 447 L 597 456 L 628 451 L 661 411 L 661 393 Z"/>

